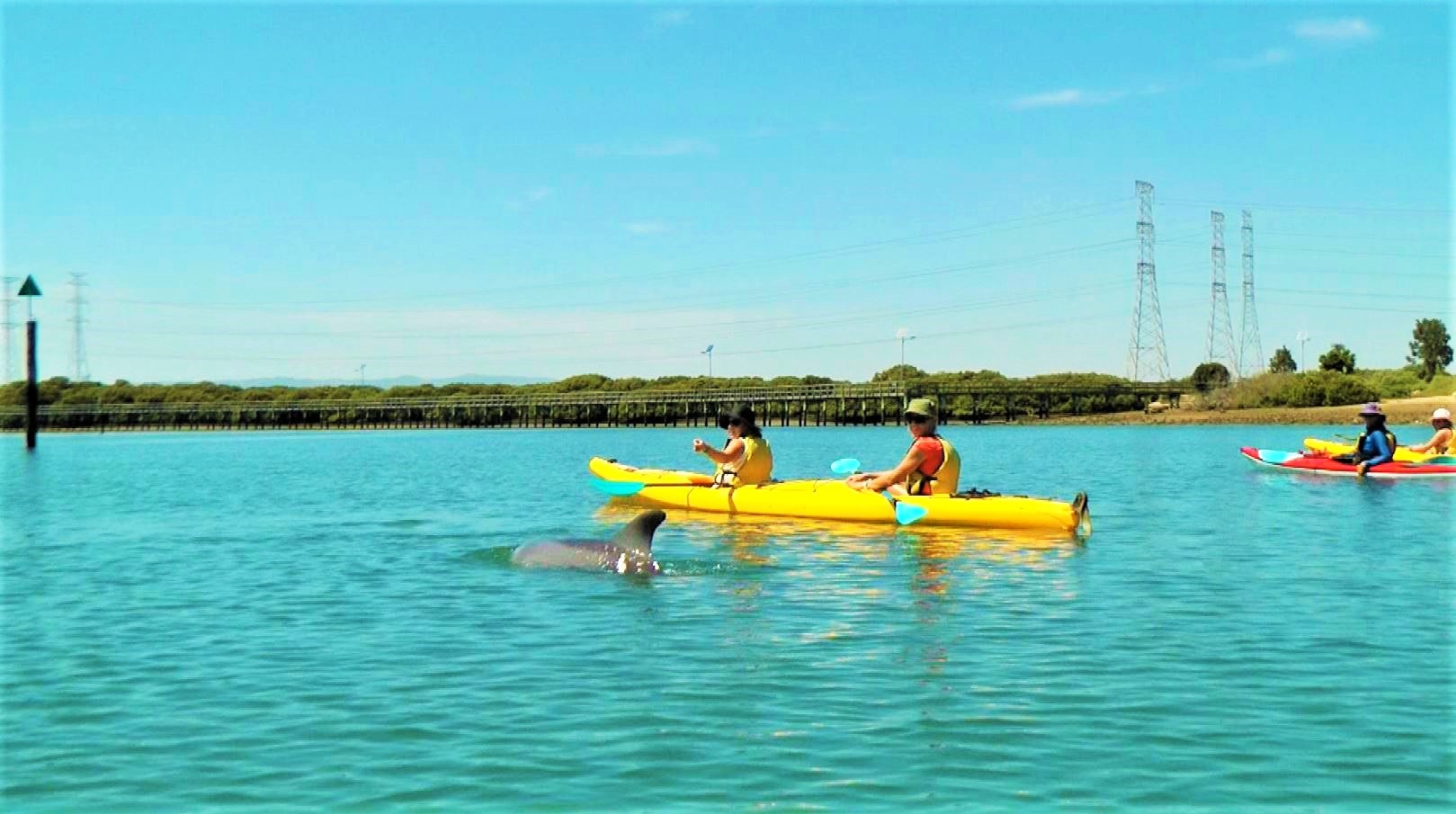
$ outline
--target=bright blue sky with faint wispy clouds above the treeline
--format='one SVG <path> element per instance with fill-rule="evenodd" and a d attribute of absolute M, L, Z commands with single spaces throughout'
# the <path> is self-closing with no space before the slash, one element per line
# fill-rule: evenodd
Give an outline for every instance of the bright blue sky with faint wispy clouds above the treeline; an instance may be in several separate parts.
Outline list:
<path fill-rule="evenodd" d="M 1452 323 L 1444 4 L 7 4 L 4 274 L 98 380 L 1174 374 Z M 20 309 L 16 313 L 23 313 Z M 15 367 L 19 371 L 19 364 Z"/>

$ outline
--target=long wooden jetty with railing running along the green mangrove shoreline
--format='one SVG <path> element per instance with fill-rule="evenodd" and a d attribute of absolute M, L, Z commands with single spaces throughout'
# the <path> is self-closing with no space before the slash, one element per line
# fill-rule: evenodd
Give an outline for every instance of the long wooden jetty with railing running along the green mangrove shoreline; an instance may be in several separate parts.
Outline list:
<path fill-rule="evenodd" d="M 705 390 L 510 393 L 415 399 L 47 405 L 42 430 L 306 430 L 386 427 L 712 427 L 740 403 L 763 427 L 894 424 L 907 399 L 935 396 L 942 422 L 983 424 L 1143 409 L 1175 384 L 1107 387 L 917 387 L 900 383 Z M 0 430 L 20 430 L 25 409 L 0 406 Z"/>

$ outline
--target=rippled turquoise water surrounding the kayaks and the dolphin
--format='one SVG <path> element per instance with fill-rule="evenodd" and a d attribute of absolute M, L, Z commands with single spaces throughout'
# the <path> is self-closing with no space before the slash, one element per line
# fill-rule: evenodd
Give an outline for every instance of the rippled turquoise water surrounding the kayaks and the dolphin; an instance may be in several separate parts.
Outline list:
<path fill-rule="evenodd" d="M 952 427 L 962 486 L 1086 489 L 1086 545 L 674 513 L 657 580 L 510 565 L 633 515 L 588 456 L 703 432 L 0 438 L 4 810 L 1456 801 L 1453 482 Z M 769 435 L 782 478 L 906 446 Z"/>

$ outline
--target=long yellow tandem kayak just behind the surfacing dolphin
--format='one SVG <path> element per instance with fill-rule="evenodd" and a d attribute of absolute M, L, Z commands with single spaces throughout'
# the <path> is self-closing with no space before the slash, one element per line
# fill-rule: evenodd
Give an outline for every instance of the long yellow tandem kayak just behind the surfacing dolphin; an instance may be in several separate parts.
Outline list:
<path fill-rule="evenodd" d="M 594 457 L 587 469 L 603 481 L 641 482 L 642 491 L 614 498 L 657 508 L 689 508 L 721 514 L 759 514 L 812 520 L 895 523 L 890 501 L 875 492 L 850 489 L 843 481 L 780 481 L 761 486 L 712 488 L 712 478 L 697 472 L 636 469 L 610 459 Z M 967 529 L 1035 529 L 1091 533 L 1086 498 L 1076 505 L 1047 498 L 1024 497 L 907 497 L 906 504 L 923 507 L 917 526 Z"/>

